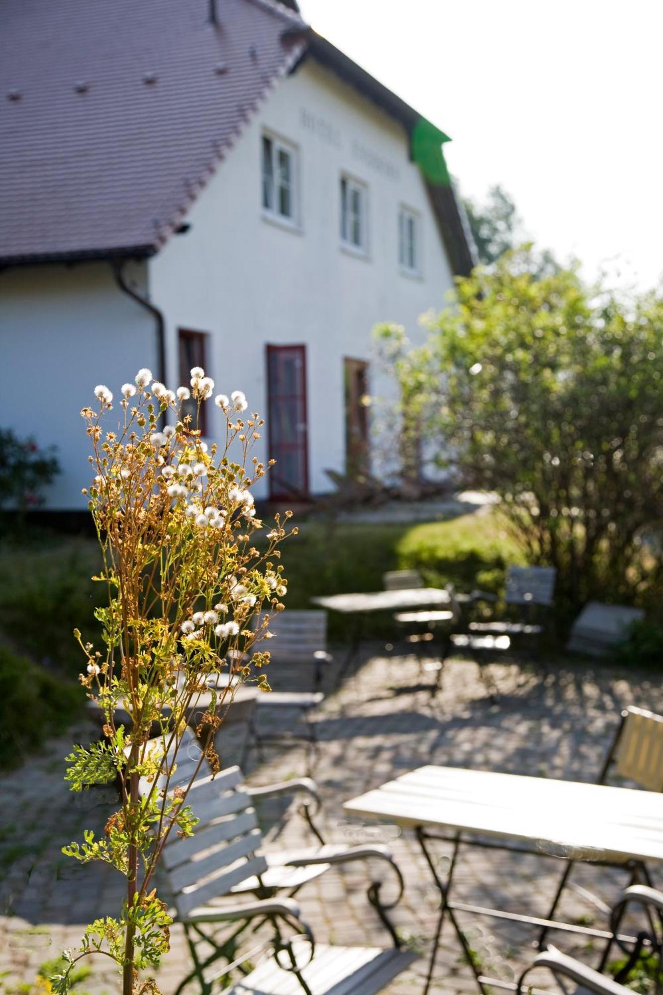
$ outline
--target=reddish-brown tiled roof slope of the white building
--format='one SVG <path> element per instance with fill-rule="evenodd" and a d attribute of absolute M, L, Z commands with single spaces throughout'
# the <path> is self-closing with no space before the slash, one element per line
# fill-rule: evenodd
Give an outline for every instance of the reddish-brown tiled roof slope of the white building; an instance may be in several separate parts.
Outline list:
<path fill-rule="evenodd" d="M 277 0 L 2 0 L 0 259 L 157 250 L 305 27 Z"/>

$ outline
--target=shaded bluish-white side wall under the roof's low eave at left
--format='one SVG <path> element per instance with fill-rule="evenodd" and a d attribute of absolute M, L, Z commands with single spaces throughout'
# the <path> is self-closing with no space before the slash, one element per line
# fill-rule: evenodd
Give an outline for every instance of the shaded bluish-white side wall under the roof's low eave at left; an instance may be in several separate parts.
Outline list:
<path fill-rule="evenodd" d="M 144 285 L 144 267 L 129 268 Z M 79 412 L 155 364 L 154 319 L 114 284 L 106 263 L 0 273 L 0 426 L 55 443 L 62 474 L 48 507 L 85 507 L 90 443 Z M 155 365 L 154 367 L 155 368 Z"/>

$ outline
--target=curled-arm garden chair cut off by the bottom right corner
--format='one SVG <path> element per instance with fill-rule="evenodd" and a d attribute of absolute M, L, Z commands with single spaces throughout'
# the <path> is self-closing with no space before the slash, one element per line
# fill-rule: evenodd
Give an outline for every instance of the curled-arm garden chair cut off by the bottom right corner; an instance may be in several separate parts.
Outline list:
<path fill-rule="evenodd" d="M 620 932 L 620 925 L 627 909 L 632 906 L 639 906 L 646 916 L 646 928 L 638 929 L 635 936 L 624 936 Z M 563 991 L 567 991 L 565 981 L 571 981 L 578 987 L 575 988 L 574 995 L 584 995 L 586 992 L 595 992 L 596 995 L 630 995 L 633 988 L 624 987 L 624 983 L 629 980 L 631 970 L 638 964 L 646 962 L 653 974 L 653 989 L 656 995 L 660 995 L 663 973 L 661 971 L 661 954 L 663 953 L 663 893 L 657 892 L 653 888 L 635 885 L 625 889 L 617 898 L 610 912 L 610 932 L 611 938 L 604 948 L 598 969 L 587 967 L 574 957 L 569 957 L 561 953 L 555 947 L 550 946 L 543 953 L 540 953 L 534 961 L 526 968 L 521 975 L 516 987 L 517 995 L 531 991 L 530 984 L 526 985 L 526 978 L 531 971 L 536 968 L 546 967 L 561 985 Z M 608 963 L 608 956 L 613 945 L 620 948 L 622 957 L 619 962 L 619 969 L 612 978 L 601 973 Z M 642 990 L 636 988 L 636 990 Z"/>

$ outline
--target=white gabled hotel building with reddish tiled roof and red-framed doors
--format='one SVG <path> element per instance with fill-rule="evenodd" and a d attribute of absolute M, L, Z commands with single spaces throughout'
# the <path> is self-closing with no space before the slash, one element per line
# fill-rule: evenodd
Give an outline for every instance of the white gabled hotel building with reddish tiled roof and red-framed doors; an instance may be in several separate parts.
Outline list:
<path fill-rule="evenodd" d="M 369 459 L 372 326 L 472 265 L 446 136 L 295 6 L 4 0 L 0 425 L 58 445 L 50 508 L 83 506 L 95 384 L 140 366 L 246 392 L 257 497 L 329 491 Z"/>

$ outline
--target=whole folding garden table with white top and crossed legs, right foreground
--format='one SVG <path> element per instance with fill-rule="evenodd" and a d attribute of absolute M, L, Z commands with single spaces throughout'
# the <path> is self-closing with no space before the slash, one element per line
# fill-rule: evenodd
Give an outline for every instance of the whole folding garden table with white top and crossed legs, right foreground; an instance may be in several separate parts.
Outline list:
<path fill-rule="evenodd" d="M 663 861 L 663 795 L 541 777 L 459 767 L 420 767 L 343 805 L 345 812 L 412 828 L 441 896 L 427 992 L 445 916 L 449 917 L 479 990 L 515 985 L 484 977 L 458 923 L 456 911 L 491 915 L 610 941 L 607 930 L 483 908 L 451 900 L 461 844 L 622 865 L 631 882 L 651 884 L 646 865 Z M 446 880 L 431 854 L 431 841 L 453 844 Z"/>

